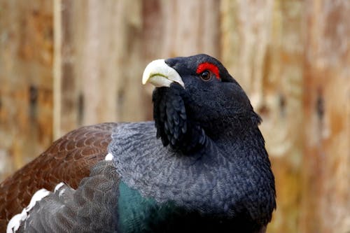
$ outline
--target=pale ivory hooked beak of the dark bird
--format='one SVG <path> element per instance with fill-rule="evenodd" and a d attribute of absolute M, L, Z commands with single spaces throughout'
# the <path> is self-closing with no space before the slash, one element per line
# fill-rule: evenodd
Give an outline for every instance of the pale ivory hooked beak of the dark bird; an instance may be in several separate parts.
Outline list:
<path fill-rule="evenodd" d="M 142 75 L 142 84 L 151 83 L 155 87 L 170 87 L 172 83 L 179 83 L 185 88 L 185 83 L 179 73 L 165 63 L 164 59 L 154 60 L 146 66 Z"/>

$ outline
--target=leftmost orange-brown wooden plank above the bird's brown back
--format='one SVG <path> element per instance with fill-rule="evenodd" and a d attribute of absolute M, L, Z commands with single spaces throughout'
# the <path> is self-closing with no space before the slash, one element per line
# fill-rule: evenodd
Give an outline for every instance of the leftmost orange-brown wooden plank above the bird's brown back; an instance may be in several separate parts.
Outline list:
<path fill-rule="evenodd" d="M 0 180 L 52 141 L 52 2 L 0 1 Z"/>

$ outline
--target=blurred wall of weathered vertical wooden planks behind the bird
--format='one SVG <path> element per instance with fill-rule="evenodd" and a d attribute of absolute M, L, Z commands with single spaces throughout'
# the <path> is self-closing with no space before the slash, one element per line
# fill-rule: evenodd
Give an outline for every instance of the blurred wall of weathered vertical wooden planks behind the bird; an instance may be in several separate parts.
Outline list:
<path fill-rule="evenodd" d="M 267 232 L 350 232 L 349 0 L 0 0 L 0 181 L 82 125 L 151 120 L 153 59 L 207 53 L 263 119 Z"/>

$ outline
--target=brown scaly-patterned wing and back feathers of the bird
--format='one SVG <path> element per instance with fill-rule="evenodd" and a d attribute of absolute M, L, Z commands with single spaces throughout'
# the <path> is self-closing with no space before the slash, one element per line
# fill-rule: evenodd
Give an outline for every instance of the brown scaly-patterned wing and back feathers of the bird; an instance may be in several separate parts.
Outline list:
<path fill-rule="evenodd" d="M 116 123 L 81 127 L 58 139 L 35 160 L 22 167 L 0 185 L 0 232 L 8 220 L 29 204 L 37 190 L 53 190 L 64 182 L 76 188 L 89 176 L 92 165 L 103 160 Z"/>

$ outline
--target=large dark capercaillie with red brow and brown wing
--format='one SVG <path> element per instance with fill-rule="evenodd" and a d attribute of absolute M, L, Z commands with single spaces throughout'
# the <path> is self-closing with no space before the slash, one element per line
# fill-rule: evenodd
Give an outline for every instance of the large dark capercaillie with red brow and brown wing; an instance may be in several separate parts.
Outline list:
<path fill-rule="evenodd" d="M 36 191 L 7 232 L 266 231 L 276 190 L 261 118 L 225 66 L 157 59 L 142 83 L 155 86 L 153 121 L 76 129 L 0 185 L 1 211 Z"/>

